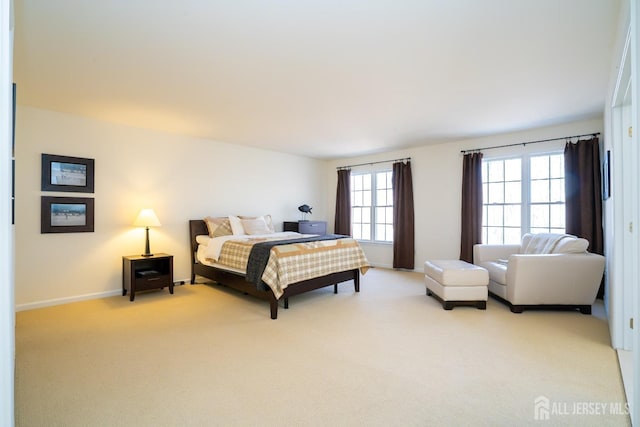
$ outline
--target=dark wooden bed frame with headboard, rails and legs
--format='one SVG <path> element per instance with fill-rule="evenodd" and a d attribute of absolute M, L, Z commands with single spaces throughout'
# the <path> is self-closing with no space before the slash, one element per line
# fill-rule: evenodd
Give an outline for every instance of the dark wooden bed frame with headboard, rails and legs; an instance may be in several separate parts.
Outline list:
<path fill-rule="evenodd" d="M 269 301 L 269 305 L 271 307 L 271 318 L 278 318 L 278 300 L 276 299 L 271 289 L 262 291 L 256 288 L 253 283 L 247 282 L 243 274 L 211 267 L 198 262 L 198 260 L 196 259 L 196 251 L 198 249 L 196 236 L 209 234 L 207 225 L 203 220 L 189 220 L 189 234 L 191 241 L 191 284 L 195 283 L 196 275 L 198 275 L 206 277 L 207 279 L 211 279 L 220 285 L 236 289 L 240 292 L 256 296 L 260 299 L 267 300 Z M 326 276 L 292 283 L 285 288 L 284 294 L 282 295 L 282 298 L 284 299 L 284 308 L 289 308 L 289 297 L 304 292 L 313 291 L 315 289 L 324 288 L 325 286 L 333 285 L 333 292 L 337 294 L 338 283 L 346 282 L 348 280 L 353 280 L 355 291 L 360 292 L 360 271 L 358 269 L 340 271 L 338 273 L 332 273 Z"/>

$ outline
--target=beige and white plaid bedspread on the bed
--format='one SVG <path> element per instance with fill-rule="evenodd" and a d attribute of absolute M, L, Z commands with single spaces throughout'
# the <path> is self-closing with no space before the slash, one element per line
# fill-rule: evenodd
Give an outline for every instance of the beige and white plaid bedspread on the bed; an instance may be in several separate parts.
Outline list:
<path fill-rule="evenodd" d="M 225 242 L 218 262 L 246 271 L 253 245 L 268 240 L 247 238 Z M 262 281 L 280 298 L 292 283 L 355 269 L 364 274 L 369 263 L 358 242 L 351 238 L 290 243 L 271 248 Z"/>

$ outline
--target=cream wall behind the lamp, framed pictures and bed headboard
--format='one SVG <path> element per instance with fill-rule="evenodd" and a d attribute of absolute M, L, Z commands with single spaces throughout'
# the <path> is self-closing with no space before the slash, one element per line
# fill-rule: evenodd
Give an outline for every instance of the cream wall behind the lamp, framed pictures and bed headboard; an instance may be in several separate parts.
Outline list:
<path fill-rule="evenodd" d="M 40 191 L 42 153 L 95 159 L 95 194 Z M 189 219 L 268 213 L 281 229 L 303 203 L 327 216 L 323 161 L 30 107 L 18 107 L 16 163 L 18 309 L 121 292 L 122 256 L 144 250 L 131 225 L 143 207 L 162 223 L 151 251 L 174 255 L 175 280 L 190 277 Z M 41 234 L 43 195 L 94 197 L 95 232 Z"/>

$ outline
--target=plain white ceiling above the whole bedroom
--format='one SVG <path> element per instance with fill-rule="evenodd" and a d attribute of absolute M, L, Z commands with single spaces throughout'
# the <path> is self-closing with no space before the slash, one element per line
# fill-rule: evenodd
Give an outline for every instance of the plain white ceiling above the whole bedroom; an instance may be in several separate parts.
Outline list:
<path fill-rule="evenodd" d="M 316 158 L 602 115 L 620 0 L 15 0 L 18 102 Z"/>

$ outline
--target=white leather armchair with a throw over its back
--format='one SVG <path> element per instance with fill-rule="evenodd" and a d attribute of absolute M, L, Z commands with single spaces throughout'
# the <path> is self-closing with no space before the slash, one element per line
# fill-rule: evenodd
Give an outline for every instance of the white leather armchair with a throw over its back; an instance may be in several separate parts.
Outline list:
<path fill-rule="evenodd" d="M 591 314 L 605 259 L 567 234 L 526 234 L 520 245 L 475 245 L 474 264 L 489 271 L 489 293 L 514 313 L 569 308 Z"/>

